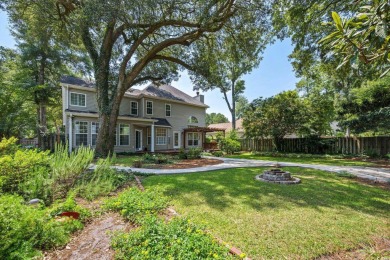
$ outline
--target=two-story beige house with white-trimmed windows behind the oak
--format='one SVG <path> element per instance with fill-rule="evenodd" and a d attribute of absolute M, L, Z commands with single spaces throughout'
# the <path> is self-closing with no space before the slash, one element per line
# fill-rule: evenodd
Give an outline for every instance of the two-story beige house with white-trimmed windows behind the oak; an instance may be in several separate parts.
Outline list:
<path fill-rule="evenodd" d="M 81 145 L 94 147 L 99 131 L 94 84 L 64 76 L 61 86 L 63 122 L 70 150 Z M 169 85 L 131 89 L 120 105 L 114 151 L 201 147 L 203 135 L 191 129 L 205 126 L 206 108 L 203 95 L 191 97 Z"/>

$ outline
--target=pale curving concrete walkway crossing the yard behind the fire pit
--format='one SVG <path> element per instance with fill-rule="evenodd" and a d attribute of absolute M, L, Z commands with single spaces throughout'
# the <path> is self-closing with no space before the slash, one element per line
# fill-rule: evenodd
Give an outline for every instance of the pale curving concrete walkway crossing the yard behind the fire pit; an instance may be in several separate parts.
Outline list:
<path fill-rule="evenodd" d="M 157 175 L 164 174 L 179 174 L 179 173 L 195 173 L 195 172 L 205 172 L 221 169 L 230 169 L 230 168 L 244 168 L 244 167 L 262 167 L 262 166 L 273 166 L 275 161 L 262 161 L 262 160 L 249 160 L 249 159 L 234 159 L 234 158 L 221 158 L 221 157 L 212 157 L 204 156 L 208 159 L 218 159 L 222 160 L 223 163 L 217 165 L 208 165 L 197 168 L 189 169 L 145 169 L 145 168 L 132 168 L 132 167 L 123 167 L 123 166 L 114 166 L 118 170 L 124 171 L 134 171 L 140 173 L 152 173 Z M 329 172 L 348 172 L 357 177 L 377 181 L 390 183 L 390 169 L 387 168 L 373 168 L 373 167 L 358 167 L 358 166 L 331 166 L 331 165 L 317 165 L 317 164 L 303 164 L 303 163 L 289 163 L 289 162 L 278 162 L 280 166 L 298 166 L 303 168 L 311 168 Z"/>

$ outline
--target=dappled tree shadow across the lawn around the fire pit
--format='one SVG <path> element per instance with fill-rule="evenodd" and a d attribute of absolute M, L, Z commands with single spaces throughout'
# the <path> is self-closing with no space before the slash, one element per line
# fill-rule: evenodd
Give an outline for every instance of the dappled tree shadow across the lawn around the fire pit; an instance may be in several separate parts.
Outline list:
<path fill-rule="evenodd" d="M 183 200 L 184 205 L 204 202 L 220 211 L 239 203 L 257 211 L 295 206 L 321 211 L 322 207 L 328 207 L 389 217 L 390 193 L 386 190 L 319 170 L 285 169 L 301 178 L 302 183 L 279 185 L 254 180 L 264 168 L 152 176 L 144 183 L 147 188 L 162 188 L 166 195 Z M 191 197 L 200 197 L 201 202 Z"/>

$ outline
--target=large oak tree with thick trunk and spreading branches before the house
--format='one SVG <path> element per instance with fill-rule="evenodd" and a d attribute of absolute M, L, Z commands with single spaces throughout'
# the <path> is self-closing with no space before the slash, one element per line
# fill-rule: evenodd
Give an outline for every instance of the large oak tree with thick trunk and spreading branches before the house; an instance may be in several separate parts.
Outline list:
<path fill-rule="evenodd" d="M 13 3 L 15 1 L 12 1 Z M 31 3 L 30 1 L 17 1 Z M 178 69 L 200 71 L 195 41 L 211 37 L 244 11 L 244 0 L 92 1 L 37 0 L 70 37 L 80 39 L 93 64 L 100 130 L 96 151 L 113 150 L 119 105 L 127 90 L 147 81 L 170 81 Z"/>

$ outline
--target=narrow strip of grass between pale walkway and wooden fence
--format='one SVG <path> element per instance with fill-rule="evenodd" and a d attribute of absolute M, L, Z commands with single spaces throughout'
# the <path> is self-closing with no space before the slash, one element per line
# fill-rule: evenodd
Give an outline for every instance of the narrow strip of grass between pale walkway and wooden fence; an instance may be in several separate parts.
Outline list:
<path fill-rule="evenodd" d="M 351 159 L 338 158 L 334 156 L 305 156 L 300 154 L 291 154 L 284 156 L 258 155 L 250 152 L 227 155 L 228 158 L 255 159 L 275 162 L 294 162 L 306 164 L 324 164 L 335 166 L 375 166 L 374 163 L 364 161 L 354 161 Z"/>

